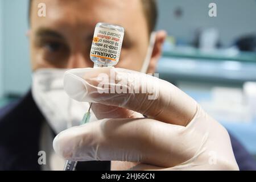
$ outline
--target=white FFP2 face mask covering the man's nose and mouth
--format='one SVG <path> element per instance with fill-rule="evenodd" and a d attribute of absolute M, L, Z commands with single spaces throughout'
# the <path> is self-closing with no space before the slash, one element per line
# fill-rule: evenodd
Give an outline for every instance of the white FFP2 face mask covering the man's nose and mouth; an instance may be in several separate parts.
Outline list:
<path fill-rule="evenodd" d="M 71 126 L 80 125 L 88 102 L 72 100 L 63 89 L 63 77 L 67 69 L 38 69 L 32 74 L 32 97 L 36 105 L 56 133 Z M 96 117 L 91 112 L 90 121 Z"/>

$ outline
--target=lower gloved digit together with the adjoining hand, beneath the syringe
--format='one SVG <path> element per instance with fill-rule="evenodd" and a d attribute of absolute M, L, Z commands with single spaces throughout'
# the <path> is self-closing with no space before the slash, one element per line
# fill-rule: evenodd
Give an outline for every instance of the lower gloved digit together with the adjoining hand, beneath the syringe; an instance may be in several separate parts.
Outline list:
<path fill-rule="evenodd" d="M 238 169 L 228 132 L 201 107 L 186 127 L 148 118 L 86 123 L 57 135 L 53 148 L 69 160 L 138 162 L 168 170 Z"/>

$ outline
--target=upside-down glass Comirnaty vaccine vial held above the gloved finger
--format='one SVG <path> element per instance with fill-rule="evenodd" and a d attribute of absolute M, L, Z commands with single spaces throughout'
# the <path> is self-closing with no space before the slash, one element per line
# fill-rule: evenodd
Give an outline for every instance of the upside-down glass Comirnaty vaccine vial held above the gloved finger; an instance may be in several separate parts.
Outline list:
<path fill-rule="evenodd" d="M 90 59 L 94 62 L 94 67 L 110 67 L 118 63 L 124 34 L 125 29 L 121 26 L 96 24 L 90 49 Z"/>

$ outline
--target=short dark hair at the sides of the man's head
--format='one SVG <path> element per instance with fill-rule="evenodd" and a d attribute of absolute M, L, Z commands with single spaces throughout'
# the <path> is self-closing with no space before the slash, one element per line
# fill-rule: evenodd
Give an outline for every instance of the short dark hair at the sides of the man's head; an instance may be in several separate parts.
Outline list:
<path fill-rule="evenodd" d="M 141 0 L 144 15 L 146 16 L 148 31 L 151 32 L 155 29 L 156 21 L 158 18 L 158 7 L 156 0 Z M 29 1 L 28 5 L 28 23 L 30 23 L 32 0 Z"/>

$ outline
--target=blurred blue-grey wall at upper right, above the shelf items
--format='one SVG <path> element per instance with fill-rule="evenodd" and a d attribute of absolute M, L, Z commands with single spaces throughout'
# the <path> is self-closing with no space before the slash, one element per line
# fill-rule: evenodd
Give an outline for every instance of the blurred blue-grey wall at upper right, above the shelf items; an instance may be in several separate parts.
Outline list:
<path fill-rule="evenodd" d="M 217 17 L 210 18 L 208 5 L 217 4 Z M 183 10 L 180 19 L 175 18 L 177 7 Z M 168 34 L 191 42 L 197 28 L 217 27 L 224 46 L 234 38 L 256 32 L 255 0 L 159 0 L 158 28 Z"/>

